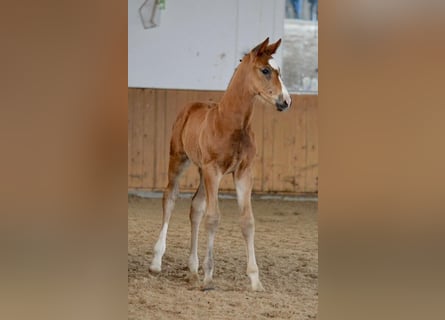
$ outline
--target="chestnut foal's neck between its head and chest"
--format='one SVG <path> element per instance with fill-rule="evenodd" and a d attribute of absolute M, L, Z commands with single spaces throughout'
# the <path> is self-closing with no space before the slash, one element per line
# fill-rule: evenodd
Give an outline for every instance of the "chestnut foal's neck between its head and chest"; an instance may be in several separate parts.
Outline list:
<path fill-rule="evenodd" d="M 221 120 L 234 130 L 247 129 L 252 121 L 255 95 L 250 92 L 246 83 L 246 74 L 241 64 L 219 103 Z"/>

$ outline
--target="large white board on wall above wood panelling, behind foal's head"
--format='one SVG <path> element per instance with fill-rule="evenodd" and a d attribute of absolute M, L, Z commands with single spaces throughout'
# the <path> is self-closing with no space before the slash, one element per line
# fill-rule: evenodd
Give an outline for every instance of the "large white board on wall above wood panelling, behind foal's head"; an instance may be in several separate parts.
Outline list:
<path fill-rule="evenodd" d="M 225 90 L 244 53 L 283 35 L 284 0 L 166 0 L 151 29 L 143 2 L 128 2 L 129 87 Z"/>

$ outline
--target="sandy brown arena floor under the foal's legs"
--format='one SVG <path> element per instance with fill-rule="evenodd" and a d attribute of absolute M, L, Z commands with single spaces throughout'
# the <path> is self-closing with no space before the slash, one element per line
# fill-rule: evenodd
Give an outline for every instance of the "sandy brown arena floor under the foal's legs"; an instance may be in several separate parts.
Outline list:
<path fill-rule="evenodd" d="M 220 200 L 216 289 L 188 281 L 190 199 L 170 220 L 163 270 L 149 273 L 161 226 L 161 199 L 128 198 L 128 319 L 315 319 L 318 305 L 317 203 L 254 200 L 255 247 L 265 292 L 250 291 L 236 200 Z M 200 263 L 206 247 L 199 238 Z M 200 277 L 203 273 L 200 268 Z"/>

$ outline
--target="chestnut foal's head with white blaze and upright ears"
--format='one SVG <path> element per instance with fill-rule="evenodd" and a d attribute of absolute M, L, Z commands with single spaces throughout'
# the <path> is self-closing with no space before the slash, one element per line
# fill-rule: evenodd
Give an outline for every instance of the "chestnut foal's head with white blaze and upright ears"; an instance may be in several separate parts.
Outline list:
<path fill-rule="evenodd" d="M 291 98 L 281 81 L 280 68 L 272 57 L 280 44 L 281 39 L 269 45 L 267 38 L 246 54 L 241 64 L 248 68 L 247 81 L 251 92 L 275 105 L 278 111 L 283 111 L 290 107 Z"/>

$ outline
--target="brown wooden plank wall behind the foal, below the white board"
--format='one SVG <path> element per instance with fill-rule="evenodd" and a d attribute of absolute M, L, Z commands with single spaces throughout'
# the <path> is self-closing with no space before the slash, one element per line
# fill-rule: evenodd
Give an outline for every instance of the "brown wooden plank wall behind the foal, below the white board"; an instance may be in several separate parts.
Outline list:
<path fill-rule="evenodd" d="M 128 188 L 163 190 L 173 121 L 191 101 L 219 101 L 221 91 L 128 89 Z M 257 142 L 255 192 L 314 193 L 318 191 L 318 96 L 292 95 L 287 112 L 255 106 Z M 184 174 L 181 191 L 194 191 L 195 166 Z M 231 175 L 220 190 L 233 190 Z"/>

